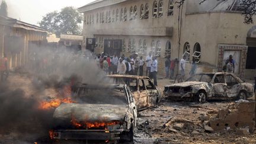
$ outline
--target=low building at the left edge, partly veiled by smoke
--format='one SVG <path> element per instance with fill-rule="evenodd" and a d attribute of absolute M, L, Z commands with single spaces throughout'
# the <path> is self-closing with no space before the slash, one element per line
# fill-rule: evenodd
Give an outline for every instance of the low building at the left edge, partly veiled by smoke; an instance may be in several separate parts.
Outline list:
<path fill-rule="evenodd" d="M 40 49 L 47 31 L 36 25 L 0 16 L 0 56 L 7 55 L 9 68 L 28 64 L 33 49 Z"/>

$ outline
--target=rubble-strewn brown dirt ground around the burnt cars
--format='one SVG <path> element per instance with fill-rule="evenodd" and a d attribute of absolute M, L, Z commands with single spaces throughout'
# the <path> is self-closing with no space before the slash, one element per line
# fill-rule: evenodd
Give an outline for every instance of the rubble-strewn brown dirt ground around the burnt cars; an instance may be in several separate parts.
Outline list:
<path fill-rule="evenodd" d="M 163 90 L 165 85 L 172 82 L 169 79 L 159 79 L 158 84 Z M 7 85 L 10 89 L 23 89 L 25 97 L 45 98 L 58 94 L 53 88 L 43 88 L 42 91 L 38 91 L 38 87 L 34 86 L 33 77 L 27 75 L 10 75 Z M 139 113 L 134 134 L 135 143 L 256 143 L 255 133 L 242 135 L 232 129 L 206 132 L 200 127 L 201 115 L 210 113 L 211 117 L 215 117 L 216 111 L 228 108 L 233 103 L 233 101 L 210 101 L 198 104 L 163 100 L 158 107 Z M 183 119 L 188 122 L 183 123 L 183 128 L 177 130 L 165 125 L 171 119 Z M 0 143 L 17 143 L 13 141 L 13 137 L 15 137 L 13 133 L 0 135 Z"/>

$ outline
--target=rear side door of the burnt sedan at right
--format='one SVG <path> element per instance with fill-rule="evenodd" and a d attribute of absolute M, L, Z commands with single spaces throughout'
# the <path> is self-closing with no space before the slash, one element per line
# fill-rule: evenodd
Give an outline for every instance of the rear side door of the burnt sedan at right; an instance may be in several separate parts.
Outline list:
<path fill-rule="evenodd" d="M 226 74 L 227 95 L 229 98 L 236 97 L 241 89 L 241 85 L 231 74 Z"/>

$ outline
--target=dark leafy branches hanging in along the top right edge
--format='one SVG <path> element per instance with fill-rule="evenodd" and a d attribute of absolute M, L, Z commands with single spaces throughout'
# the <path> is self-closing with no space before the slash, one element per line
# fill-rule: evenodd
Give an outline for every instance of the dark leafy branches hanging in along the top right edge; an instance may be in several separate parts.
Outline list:
<path fill-rule="evenodd" d="M 209 0 L 199 0 L 199 4 L 202 4 L 205 1 Z M 226 1 L 226 0 L 223 0 Z M 242 8 L 242 15 L 244 17 L 244 23 L 245 24 L 252 24 L 253 15 L 256 14 L 256 0 L 240 0 L 241 1 L 241 8 Z M 180 0 L 175 3 L 178 4 L 178 8 L 180 9 L 183 7 L 185 0 Z"/>

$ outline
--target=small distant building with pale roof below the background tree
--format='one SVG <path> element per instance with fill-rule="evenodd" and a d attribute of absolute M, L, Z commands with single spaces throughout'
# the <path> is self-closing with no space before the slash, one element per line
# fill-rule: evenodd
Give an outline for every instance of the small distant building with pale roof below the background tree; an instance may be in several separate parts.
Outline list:
<path fill-rule="evenodd" d="M 71 52 L 79 52 L 82 50 L 82 36 L 60 34 L 59 47 L 62 46 Z"/>

